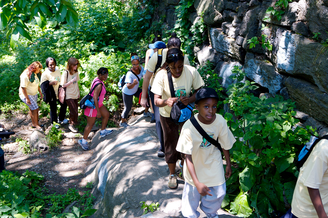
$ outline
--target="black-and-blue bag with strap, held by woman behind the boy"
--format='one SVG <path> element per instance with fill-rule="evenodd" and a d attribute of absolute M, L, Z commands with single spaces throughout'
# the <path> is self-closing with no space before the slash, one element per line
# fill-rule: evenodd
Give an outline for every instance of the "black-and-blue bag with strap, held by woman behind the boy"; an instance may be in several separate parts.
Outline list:
<path fill-rule="evenodd" d="M 171 71 L 167 72 L 167 77 L 169 80 L 171 97 L 174 98 L 175 94 L 174 94 L 174 87 L 173 87 Z M 177 103 L 174 103 L 174 105 L 172 106 L 170 118 L 175 124 L 178 125 L 178 124 L 190 119 L 190 117 L 193 114 L 193 109 L 194 108 L 190 104 L 184 105 L 181 101 L 178 101 Z"/>

